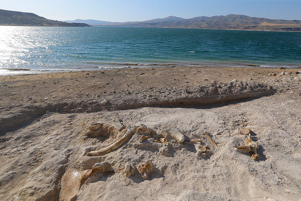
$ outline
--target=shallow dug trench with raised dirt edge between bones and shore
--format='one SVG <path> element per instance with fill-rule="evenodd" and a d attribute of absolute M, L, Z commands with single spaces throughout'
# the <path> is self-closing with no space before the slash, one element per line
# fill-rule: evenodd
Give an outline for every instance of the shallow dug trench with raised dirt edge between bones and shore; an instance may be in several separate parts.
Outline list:
<path fill-rule="evenodd" d="M 14 131 L 31 124 L 36 119 L 45 115 L 45 111 L 49 112 L 98 112 L 111 110 L 127 110 L 142 107 L 196 107 L 200 108 L 206 105 L 219 103 L 229 103 L 232 101 L 241 101 L 250 98 L 259 98 L 262 96 L 270 96 L 275 93 L 271 86 L 257 82 L 238 82 L 236 86 L 233 84 L 224 84 L 224 87 L 218 88 L 213 84 L 211 86 L 199 86 L 196 90 L 188 92 L 188 97 L 161 97 L 152 101 L 136 100 L 135 102 L 120 102 L 112 100 L 106 105 L 100 103 L 89 104 L 87 102 L 63 102 L 54 105 L 36 105 L 27 108 L 18 108 L 7 115 L 0 117 L 0 135 L 6 132 Z M 177 95 L 175 95 L 177 96 Z M 130 97 L 130 96 L 129 96 Z"/>

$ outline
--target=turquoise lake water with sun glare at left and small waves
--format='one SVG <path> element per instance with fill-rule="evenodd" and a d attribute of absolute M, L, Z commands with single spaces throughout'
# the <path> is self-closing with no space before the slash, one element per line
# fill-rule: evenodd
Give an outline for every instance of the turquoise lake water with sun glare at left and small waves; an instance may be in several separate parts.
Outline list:
<path fill-rule="evenodd" d="M 301 33 L 0 26 L 0 74 L 162 65 L 296 68 Z"/>

